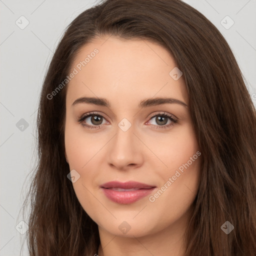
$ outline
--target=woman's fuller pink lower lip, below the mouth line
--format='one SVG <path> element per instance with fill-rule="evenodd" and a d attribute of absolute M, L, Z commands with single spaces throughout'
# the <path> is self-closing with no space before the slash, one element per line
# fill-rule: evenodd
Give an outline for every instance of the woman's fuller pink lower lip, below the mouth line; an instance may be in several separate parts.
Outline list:
<path fill-rule="evenodd" d="M 141 189 L 130 190 L 130 191 L 115 191 L 115 190 L 112 190 L 111 188 L 101 187 L 101 189 L 103 189 L 105 196 L 108 199 L 117 203 L 122 203 L 122 204 L 135 202 L 147 196 L 148 194 L 150 194 L 154 188 L 155 187 L 147 188 L 147 189 L 141 188 Z"/>

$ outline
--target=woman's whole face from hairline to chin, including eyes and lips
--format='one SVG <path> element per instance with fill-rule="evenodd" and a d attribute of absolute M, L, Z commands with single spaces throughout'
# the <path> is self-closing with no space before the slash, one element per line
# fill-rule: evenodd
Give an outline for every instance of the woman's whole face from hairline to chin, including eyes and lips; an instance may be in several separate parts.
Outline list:
<path fill-rule="evenodd" d="M 66 158 L 99 231 L 139 237 L 184 225 L 201 156 L 172 56 L 147 40 L 105 36 L 80 49 L 70 72 Z"/>

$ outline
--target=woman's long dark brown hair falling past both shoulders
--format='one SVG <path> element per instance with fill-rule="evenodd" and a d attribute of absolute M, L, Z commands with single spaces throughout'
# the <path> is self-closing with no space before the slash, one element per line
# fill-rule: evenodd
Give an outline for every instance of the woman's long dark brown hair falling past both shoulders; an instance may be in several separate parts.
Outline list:
<path fill-rule="evenodd" d="M 226 40 L 180 0 L 104 0 L 65 30 L 48 67 L 37 115 L 38 163 L 30 197 L 30 256 L 97 253 L 97 224 L 78 202 L 64 156 L 65 95 L 50 93 L 70 73 L 79 49 L 100 35 L 162 45 L 183 72 L 202 153 L 199 189 L 185 233 L 185 255 L 256 255 L 256 114 Z M 100 53 L 99 53 L 100 54 Z M 234 229 L 226 234 L 222 224 Z"/>

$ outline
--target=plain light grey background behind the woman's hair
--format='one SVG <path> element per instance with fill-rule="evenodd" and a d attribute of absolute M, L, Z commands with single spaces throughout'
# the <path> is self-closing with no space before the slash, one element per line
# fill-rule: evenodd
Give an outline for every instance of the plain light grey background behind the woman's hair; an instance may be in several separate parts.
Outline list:
<path fill-rule="evenodd" d="M 184 1 L 226 38 L 256 105 L 256 0 Z M 35 120 L 46 68 L 64 28 L 96 2 L 0 0 L 0 256 L 19 255 L 26 230 L 20 207 L 36 160 Z M 234 21 L 228 29 L 227 15 Z M 25 19 L 29 24 L 21 29 Z"/>

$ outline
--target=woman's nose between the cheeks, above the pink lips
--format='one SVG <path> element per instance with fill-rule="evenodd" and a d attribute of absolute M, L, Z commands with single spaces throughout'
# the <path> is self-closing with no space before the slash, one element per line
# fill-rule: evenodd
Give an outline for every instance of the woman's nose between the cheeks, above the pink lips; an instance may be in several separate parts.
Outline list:
<path fill-rule="evenodd" d="M 142 150 L 143 144 L 134 134 L 133 126 L 126 131 L 117 127 L 108 148 L 108 164 L 119 170 L 137 168 L 143 162 Z"/>

